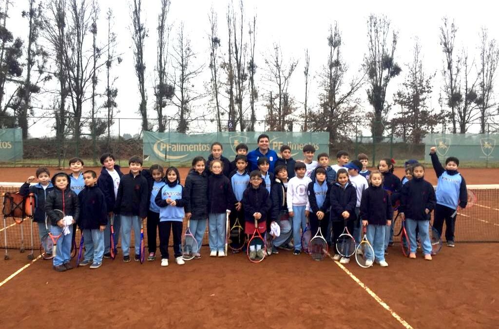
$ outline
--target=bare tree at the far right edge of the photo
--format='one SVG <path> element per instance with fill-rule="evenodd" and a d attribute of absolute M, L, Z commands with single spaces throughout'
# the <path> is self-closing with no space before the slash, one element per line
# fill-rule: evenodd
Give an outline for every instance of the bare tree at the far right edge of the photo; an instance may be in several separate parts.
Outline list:
<path fill-rule="evenodd" d="M 477 105 L 480 108 L 480 132 L 485 134 L 490 109 L 497 106 L 494 102 L 494 83 L 499 63 L 499 48 L 496 39 L 489 40 L 487 28 L 480 31 L 479 87 Z"/>

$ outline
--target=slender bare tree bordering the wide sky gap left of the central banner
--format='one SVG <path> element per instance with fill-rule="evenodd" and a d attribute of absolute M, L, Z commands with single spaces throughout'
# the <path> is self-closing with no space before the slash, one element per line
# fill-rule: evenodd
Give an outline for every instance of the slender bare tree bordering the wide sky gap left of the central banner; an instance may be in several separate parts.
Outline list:
<path fill-rule="evenodd" d="M 118 106 L 116 97 L 118 96 L 118 88 L 114 85 L 117 77 L 111 78 L 111 68 L 116 59 L 118 64 L 121 63 L 121 57 L 116 54 L 116 34 L 112 32 L 112 25 L 114 22 L 114 15 L 111 8 L 106 12 L 107 20 L 107 55 L 106 55 L 106 101 L 102 105 L 107 110 L 106 115 L 106 129 L 107 129 L 107 142 L 111 139 L 111 126 L 114 123 L 114 109 Z"/>

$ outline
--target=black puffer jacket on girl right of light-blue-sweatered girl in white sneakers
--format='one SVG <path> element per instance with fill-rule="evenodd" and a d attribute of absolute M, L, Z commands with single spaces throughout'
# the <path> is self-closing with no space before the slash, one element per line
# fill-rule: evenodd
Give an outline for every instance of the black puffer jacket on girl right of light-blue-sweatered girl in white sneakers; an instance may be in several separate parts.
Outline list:
<path fill-rule="evenodd" d="M 187 175 L 182 199 L 186 213 L 192 213 L 192 220 L 208 218 L 208 176 L 198 174 L 194 169 Z"/>

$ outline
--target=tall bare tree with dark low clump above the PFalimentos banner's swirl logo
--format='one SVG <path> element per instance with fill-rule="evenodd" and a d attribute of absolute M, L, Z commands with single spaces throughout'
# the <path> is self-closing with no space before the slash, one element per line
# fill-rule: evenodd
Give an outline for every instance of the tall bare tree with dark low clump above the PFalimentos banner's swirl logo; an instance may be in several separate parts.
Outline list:
<path fill-rule="evenodd" d="M 166 130 L 166 120 L 163 114 L 163 108 L 166 106 L 166 100 L 171 100 L 174 95 L 174 88 L 167 82 L 168 72 L 168 41 L 170 36 L 170 26 L 167 24 L 167 16 L 170 11 L 170 0 L 161 0 L 161 11 L 158 14 L 158 55 L 156 63 L 156 83 L 154 96 L 156 97 L 156 113 L 158 114 L 158 131 Z"/>

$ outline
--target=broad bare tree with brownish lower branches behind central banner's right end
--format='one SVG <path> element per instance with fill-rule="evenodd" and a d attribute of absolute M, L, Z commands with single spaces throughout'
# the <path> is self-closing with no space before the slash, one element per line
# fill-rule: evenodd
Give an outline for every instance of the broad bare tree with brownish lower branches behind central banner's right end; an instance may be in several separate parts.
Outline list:
<path fill-rule="evenodd" d="M 355 94 L 363 86 L 366 74 L 354 76 L 348 84 L 345 83 L 349 68 L 342 57 L 342 38 L 337 22 L 334 29 L 329 27 L 327 45 L 327 63 L 319 73 L 323 90 L 319 94 L 320 108 L 309 111 L 309 124 L 311 131 L 329 133 L 329 153 L 332 154 L 335 143 L 356 129 L 351 124 L 360 117 L 357 106 L 360 100 Z"/>

